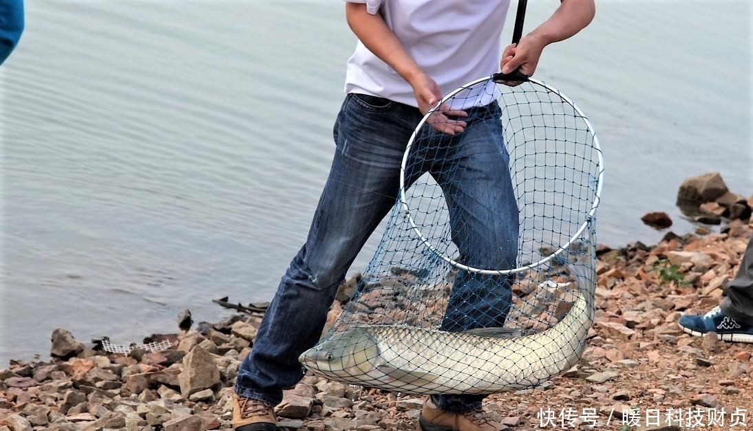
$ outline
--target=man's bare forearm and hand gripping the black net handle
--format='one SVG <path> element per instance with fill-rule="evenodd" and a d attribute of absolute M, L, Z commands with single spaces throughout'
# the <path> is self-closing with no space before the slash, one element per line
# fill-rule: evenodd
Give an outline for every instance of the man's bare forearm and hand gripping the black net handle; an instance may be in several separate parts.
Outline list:
<path fill-rule="evenodd" d="M 520 68 L 523 74 L 531 76 L 544 47 L 571 38 L 588 26 L 595 14 L 594 0 L 562 0 L 559 8 L 541 26 L 521 38 L 519 44 L 505 48 L 501 61 L 502 72 L 510 73 Z"/>

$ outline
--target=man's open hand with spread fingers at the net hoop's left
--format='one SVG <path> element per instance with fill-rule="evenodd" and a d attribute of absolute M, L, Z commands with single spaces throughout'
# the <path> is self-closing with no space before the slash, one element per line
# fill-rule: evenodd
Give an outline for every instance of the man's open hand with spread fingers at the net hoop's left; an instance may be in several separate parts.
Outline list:
<path fill-rule="evenodd" d="M 413 93 L 416 95 L 416 102 L 419 104 L 421 114 L 426 114 L 437 107 L 437 103 L 442 100 L 442 92 L 437 83 L 427 74 L 419 74 L 410 85 L 413 87 Z M 426 120 L 434 129 L 449 135 L 455 135 L 465 130 L 465 121 L 460 120 L 467 117 L 468 113 L 459 109 L 450 109 L 450 106 L 444 104 L 429 115 Z"/>

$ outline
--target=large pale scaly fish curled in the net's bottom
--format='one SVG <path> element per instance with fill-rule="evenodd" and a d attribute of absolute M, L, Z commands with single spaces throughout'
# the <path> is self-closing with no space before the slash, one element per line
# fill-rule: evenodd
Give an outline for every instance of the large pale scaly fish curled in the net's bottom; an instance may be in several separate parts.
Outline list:
<path fill-rule="evenodd" d="M 333 381 L 415 394 L 488 394 L 535 387 L 581 359 L 593 325 L 594 266 L 569 265 L 575 302 L 550 329 L 531 335 L 364 325 L 337 332 L 298 360 Z M 493 331 L 492 331 L 493 333 Z"/>

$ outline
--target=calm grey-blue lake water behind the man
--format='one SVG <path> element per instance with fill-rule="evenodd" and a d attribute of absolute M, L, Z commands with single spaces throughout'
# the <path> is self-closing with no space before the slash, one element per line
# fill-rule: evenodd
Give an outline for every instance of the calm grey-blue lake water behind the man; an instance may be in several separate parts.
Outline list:
<path fill-rule="evenodd" d="M 27 3 L 0 68 L 0 368 L 46 358 L 58 327 L 138 342 L 175 332 L 185 308 L 232 314 L 212 299 L 271 299 L 331 160 L 355 45 L 343 2 Z M 527 29 L 559 4 L 534 3 Z M 692 175 L 753 194 L 751 11 L 602 0 L 588 29 L 544 52 L 536 77 L 602 145 L 599 242 L 655 244 L 650 211 L 691 232 L 675 196 Z"/>

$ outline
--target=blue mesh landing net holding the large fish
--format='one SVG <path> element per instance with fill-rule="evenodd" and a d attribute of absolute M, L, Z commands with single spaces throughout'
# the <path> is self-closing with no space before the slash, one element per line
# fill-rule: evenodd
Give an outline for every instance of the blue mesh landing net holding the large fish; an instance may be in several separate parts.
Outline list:
<path fill-rule="evenodd" d="M 561 93 L 478 80 L 424 117 L 355 293 L 301 361 L 403 393 L 532 387 L 578 361 L 593 322 L 596 135 Z M 439 125 L 441 126 L 441 125 Z M 440 127 L 441 128 L 441 127 Z"/>

